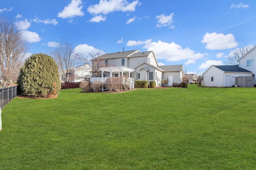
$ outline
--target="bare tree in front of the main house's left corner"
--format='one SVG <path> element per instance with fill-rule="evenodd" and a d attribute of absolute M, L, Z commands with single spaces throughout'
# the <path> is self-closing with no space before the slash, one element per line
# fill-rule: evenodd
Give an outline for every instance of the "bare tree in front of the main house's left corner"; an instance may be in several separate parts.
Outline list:
<path fill-rule="evenodd" d="M 109 66 L 109 63 L 106 63 L 105 52 L 102 50 L 91 52 L 87 56 L 80 55 L 79 61 L 84 64 L 89 64 L 91 66 L 92 74 L 96 77 L 99 77 L 101 74 L 101 70 L 99 68 Z"/>

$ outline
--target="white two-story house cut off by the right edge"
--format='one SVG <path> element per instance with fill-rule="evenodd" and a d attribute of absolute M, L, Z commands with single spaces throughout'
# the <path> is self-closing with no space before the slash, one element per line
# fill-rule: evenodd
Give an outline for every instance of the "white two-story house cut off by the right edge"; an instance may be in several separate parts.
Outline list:
<path fill-rule="evenodd" d="M 254 77 L 254 84 L 256 84 L 255 73 L 256 73 L 256 65 L 254 61 L 256 60 L 256 46 L 253 47 L 248 53 L 246 53 L 243 57 L 241 57 L 239 61 L 239 66 L 246 70 L 252 72 L 252 76 Z"/>

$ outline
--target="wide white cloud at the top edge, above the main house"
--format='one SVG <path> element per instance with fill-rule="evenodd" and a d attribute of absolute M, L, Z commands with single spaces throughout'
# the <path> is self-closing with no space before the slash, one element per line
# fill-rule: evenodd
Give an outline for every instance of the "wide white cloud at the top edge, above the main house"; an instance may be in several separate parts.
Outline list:
<path fill-rule="evenodd" d="M 140 6 L 138 0 L 128 3 L 126 0 L 100 0 L 99 4 L 90 5 L 87 11 L 90 14 L 108 14 L 114 11 L 134 12 L 136 6 Z"/>

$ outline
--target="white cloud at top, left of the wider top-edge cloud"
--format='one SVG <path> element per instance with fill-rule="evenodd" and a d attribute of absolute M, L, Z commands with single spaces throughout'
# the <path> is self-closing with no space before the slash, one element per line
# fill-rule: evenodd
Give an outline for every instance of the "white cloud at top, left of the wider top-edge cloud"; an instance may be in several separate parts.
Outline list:
<path fill-rule="evenodd" d="M 60 18 L 73 18 L 75 16 L 84 16 L 84 12 L 82 12 L 82 0 L 72 0 L 68 6 L 65 6 L 62 12 L 59 12 L 57 17 Z"/>

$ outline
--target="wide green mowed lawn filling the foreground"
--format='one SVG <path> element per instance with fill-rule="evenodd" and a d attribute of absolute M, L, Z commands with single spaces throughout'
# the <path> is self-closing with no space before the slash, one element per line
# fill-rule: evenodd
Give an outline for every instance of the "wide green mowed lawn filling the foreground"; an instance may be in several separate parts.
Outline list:
<path fill-rule="evenodd" d="M 61 90 L 2 110 L 1 170 L 252 170 L 256 88 Z"/>

